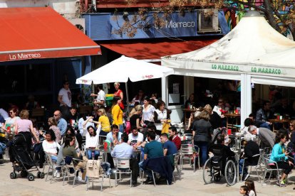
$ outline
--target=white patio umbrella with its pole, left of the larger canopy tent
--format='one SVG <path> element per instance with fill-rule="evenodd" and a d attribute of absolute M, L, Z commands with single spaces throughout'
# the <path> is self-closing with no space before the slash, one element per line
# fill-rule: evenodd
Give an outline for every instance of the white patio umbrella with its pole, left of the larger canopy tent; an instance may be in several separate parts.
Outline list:
<path fill-rule="evenodd" d="M 93 84 L 127 82 L 128 79 L 132 82 L 138 82 L 141 80 L 166 77 L 173 73 L 174 70 L 172 68 L 155 65 L 135 58 L 128 58 L 123 55 L 120 58 L 109 62 L 107 65 L 79 77 L 76 80 L 76 84 L 91 85 L 92 82 Z M 129 103 L 127 84 L 125 87 L 127 102 Z"/>

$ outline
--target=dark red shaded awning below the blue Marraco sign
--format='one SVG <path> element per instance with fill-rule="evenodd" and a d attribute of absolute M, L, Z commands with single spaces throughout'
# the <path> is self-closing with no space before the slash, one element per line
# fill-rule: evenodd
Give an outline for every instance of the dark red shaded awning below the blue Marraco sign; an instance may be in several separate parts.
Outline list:
<path fill-rule="evenodd" d="M 190 40 L 141 40 L 99 43 L 105 48 L 138 60 L 159 60 L 162 56 L 187 53 L 205 47 L 217 38 L 198 38 Z"/>

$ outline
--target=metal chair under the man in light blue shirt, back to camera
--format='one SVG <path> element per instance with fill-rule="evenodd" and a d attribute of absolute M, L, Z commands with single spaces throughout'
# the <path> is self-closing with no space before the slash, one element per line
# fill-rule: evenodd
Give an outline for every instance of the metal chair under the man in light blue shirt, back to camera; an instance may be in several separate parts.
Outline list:
<path fill-rule="evenodd" d="M 118 185 L 117 174 L 130 174 L 130 187 L 132 187 L 132 170 L 130 170 L 130 158 L 114 158 L 115 160 L 115 186 Z"/>

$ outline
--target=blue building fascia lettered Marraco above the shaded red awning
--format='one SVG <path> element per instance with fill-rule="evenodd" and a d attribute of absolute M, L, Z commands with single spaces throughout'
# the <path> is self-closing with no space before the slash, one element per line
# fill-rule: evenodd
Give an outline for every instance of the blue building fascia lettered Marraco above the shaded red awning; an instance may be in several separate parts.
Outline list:
<path fill-rule="evenodd" d="M 229 32 L 223 11 L 215 11 L 213 16 L 205 18 L 203 11 L 190 11 L 180 14 L 164 13 L 153 16 L 149 12 L 145 20 L 137 13 L 87 13 L 86 34 L 93 40 L 123 40 L 141 38 L 195 37 L 221 35 Z M 162 25 L 157 26 L 157 17 Z"/>

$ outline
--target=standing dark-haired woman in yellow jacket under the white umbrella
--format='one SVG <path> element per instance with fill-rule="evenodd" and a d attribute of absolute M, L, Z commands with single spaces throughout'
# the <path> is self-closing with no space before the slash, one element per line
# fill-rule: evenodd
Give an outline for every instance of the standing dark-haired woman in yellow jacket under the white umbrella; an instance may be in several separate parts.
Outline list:
<path fill-rule="evenodd" d="M 119 126 L 119 131 L 123 134 L 123 111 L 120 108 L 120 103 L 122 102 L 120 97 L 115 96 L 113 99 L 112 115 L 113 115 L 113 124 Z"/>

